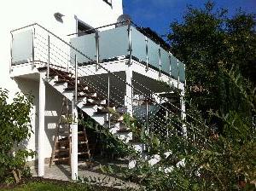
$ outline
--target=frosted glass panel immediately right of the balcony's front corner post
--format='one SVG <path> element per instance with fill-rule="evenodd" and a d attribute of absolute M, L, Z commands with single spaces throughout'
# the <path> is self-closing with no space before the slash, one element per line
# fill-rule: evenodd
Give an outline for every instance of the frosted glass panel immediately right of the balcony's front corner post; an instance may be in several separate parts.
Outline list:
<path fill-rule="evenodd" d="M 132 55 L 139 61 L 147 62 L 146 38 L 135 27 L 131 27 L 131 46 Z"/>

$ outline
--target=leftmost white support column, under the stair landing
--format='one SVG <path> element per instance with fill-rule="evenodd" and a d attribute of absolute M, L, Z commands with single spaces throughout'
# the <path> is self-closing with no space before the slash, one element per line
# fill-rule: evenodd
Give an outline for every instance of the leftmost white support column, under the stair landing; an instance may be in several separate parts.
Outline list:
<path fill-rule="evenodd" d="M 39 79 L 39 127 L 38 127 L 38 177 L 44 177 L 44 111 L 45 111 L 45 73 L 40 73 Z"/>

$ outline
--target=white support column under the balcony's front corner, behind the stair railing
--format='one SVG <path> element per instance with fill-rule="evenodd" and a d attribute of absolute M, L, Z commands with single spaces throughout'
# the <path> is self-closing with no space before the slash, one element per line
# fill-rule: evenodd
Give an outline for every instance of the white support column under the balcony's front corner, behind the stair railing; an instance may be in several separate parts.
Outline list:
<path fill-rule="evenodd" d="M 127 66 L 127 69 L 125 71 L 126 76 L 126 88 L 125 88 L 125 107 L 127 107 L 127 113 L 130 113 L 132 115 L 132 98 L 133 98 L 133 92 L 132 92 L 132 69 L 131 65 Z"/>

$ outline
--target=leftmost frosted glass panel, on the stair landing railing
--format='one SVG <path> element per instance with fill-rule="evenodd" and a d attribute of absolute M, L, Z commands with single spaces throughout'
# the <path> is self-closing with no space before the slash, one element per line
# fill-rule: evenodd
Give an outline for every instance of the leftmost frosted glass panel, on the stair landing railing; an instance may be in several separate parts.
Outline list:
<path fill-rule="evenodd" d="M 16 33 L 12 43 L 12 65 L 32 61 L 32 30 Z"/>

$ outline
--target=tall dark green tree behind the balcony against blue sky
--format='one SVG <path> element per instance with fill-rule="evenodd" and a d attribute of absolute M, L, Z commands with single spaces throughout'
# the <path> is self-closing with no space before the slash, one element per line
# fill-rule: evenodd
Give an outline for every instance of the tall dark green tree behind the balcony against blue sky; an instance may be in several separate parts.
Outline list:
<path fill-rule="evenodd" d="M 226 9 L 214 11 L 211 1 L 203 9 L 189 7 L 183 23 L 173 22 L 168 35 L 172 52 L 186 63 L 187 99 L 192 99 L 204 116 L 210 109 L 250 114 L 249 106 L 230 89 L 219 67 L 235 67 L 256 84 L 255 15 L 240 10 L 228 18 L 227 13 Z M 195 92 L 195 86 L 200 86 L 201 92 Z"/>

